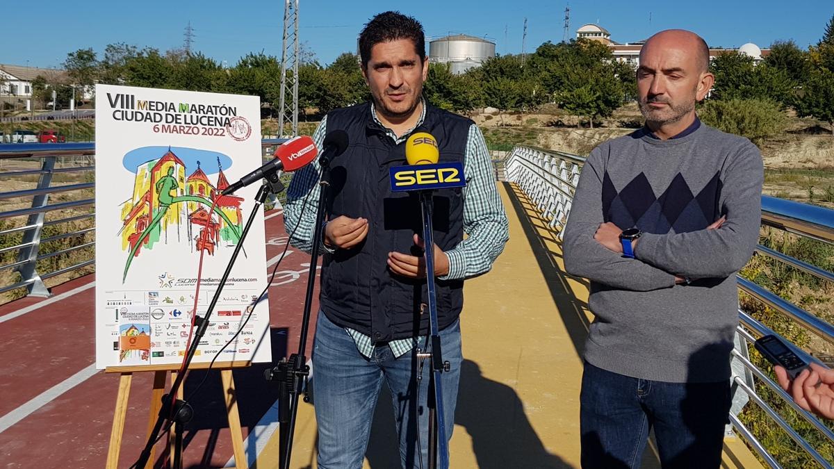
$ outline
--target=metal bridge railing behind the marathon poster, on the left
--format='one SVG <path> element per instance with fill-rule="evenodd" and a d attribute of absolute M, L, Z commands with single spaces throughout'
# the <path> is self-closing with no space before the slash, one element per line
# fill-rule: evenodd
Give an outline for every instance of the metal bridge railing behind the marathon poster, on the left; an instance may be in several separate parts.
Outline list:
<path fill-rule="evenodd" d="M 264 139 L 262 140 L 262 156 L 269 158 L 274 147 L 282 144 L 286 139 Z M 14 260 L 0 264 L 0 272 L 17 271 L 20 280 L 8 285 L 0 284 L 0 294 L 18 288 L 27 288 L 28 295 L 48 296 L 49 290 L 43 280 L 56 275 L 62 275 L 73 270 L 78 270 L 88 265 L 93 265 L 95 256 L 82 255 L 81 259 L 73 265 L 60 265 L 54 270 L 39 271 L 38 261 L 48 260 L 55 256 L 66 255 L 73 251 L 94 247 L 92 239 L 95 228 L 90 223 L 89 228 L 76 229 L 74 231 L 59 231 L 57 235 L 43 237 L 44 228 L 50 225 L 66 225 L 73 222 L 93 219 L 95 217 L 94 204 L 90 189 L 95 187 L 94 182 L 78 182 L 76 184 L 56 185 L 53 181 L 55 174 L 90 174 L 88 181 L 93 181 L 93 159 L 95 156 L 95 144 L 85 142 L 78 144 L 0 144 L 0 189 L 6 189 L 12 181 L 19 181 L 21 178 L 36 176 L 38 181 L 34 189 L 4 190 L 0 192 L 0 207 L 11 204 L 23 204 L 23 208 L 5 209 L 0 211 L 0 222 L 15 220 L 11 227 L 0 229 L 0 255 L 10 257 Z M 24 163 L 25 162 L 25 163 Z M 24 168 L 28 163 L 37 164 L 38 169 Z M 5 170 L 8 169 L 8 170 Z M 66 201 L 49 202 L 52 194 L 67 195 Z M 31 202 L 29 202 L 31 200 Z M 79 213 L 80 212 L 80 213 Z M 47 214 L 50 214 L 47 219 Z M 52 214 L 58 214 L 53 216 Z M 27 217 L 26 221 L 19 226 L 19 219 Z M 22 240 L 11 245 L 3 242 L 10 236 L 17 237 L 22 234 Z M 49 241 L 75 238 L 76 241 L 69 247 L 50 253 L 41 252 L 41 246 Z M 8 244 L 8 245 L 7 245 Z"/>

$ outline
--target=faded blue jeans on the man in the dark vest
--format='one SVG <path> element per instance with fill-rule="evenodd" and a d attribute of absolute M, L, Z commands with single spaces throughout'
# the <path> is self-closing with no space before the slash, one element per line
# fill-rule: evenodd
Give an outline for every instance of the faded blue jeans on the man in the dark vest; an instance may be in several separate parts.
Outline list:
<path fill-rule="evenodd" d="M 463 361 L 460 321 L 440 331 L 440 344 L 443 360 L 451 365 L 450 371 L 440 375 L 446 437 L 451 438 Z M 423 343 L 420 346 L 425 347 Z M 383 381 L 391 391 L 403 467 L 420 467 L 418 455 L 422 466 L 428 467 L 426 399 L 430 363 L 417 360 L 415 354 L 416 349 L 394 358 L 389 345 L 382 344 L 374 347 L 374 356 L 369 360 L 359 353 L 346 330 L 319 312 L 313 347 L 313 399 L 319 426 L 320 469 L 362 466 Z"/>

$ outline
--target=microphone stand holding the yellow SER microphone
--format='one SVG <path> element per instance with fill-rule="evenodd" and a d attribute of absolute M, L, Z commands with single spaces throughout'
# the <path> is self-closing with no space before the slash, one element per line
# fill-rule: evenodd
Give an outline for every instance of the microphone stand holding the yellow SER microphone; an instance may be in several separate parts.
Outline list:
<path fill-rule="evenodd" d="M 429 376 L 429 467 L 449 467 L 449 440 L 446 439 L 446 426 L 443 405 L 443 386 L 440 373 L 450 370 L 449 361 L 443 361 L 443 350 L 440 348 L 440 331 L 437 325 L 437 290 L 435 289 L 435 240 L 432 228 L 434 206 L 431 191 L 420 191 L 420 206 L 423 212 L 423 240 L 425 242 L 425 278 L 429 290 L 429 329 L 431 350 L 417 350 L 417 358 L 428 359 L 431 365 Z M 417 372 L 417 369 L 414 369 Z M 419 437 L 419 436 L 418 436 Z M 420 455 L 420 458 L 423 456 Z"/>

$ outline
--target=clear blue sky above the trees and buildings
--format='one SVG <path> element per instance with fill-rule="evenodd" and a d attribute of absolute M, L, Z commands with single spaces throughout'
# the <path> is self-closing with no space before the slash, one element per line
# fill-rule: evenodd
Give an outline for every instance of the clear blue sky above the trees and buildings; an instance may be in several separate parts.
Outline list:
<path fill-rule="evenodd" d="M 553 0 L 300 0 L 299 36 L 319 63 L 327 64 L 339 53 L 355 52 L 359 30 L 371 16 L 399 9 L 418 18 L 430 38 L 465 33 L 495 41 L 498 53 L 520 53 L 526 17 L 526 50 L 530 52 L 545 41 L 561 40 L 567 4 Z M 4 41 L 0 63 L 53 68 L 78 48 L 92 47 L 102 55 L 105 45 L 119 42 L 163 51 L 178 48 L 189 21 L 195 34 L 193 49 L 228 66 L 249 52 L 281 53 L 281 0 L 43 0 L 36 10 L 21 21 L 4 22 L 3 38 L 17 39 Z M 686 28 L 700 33 L 711 46 L 731 48 L 752 42 L 765 48 L 774 40 L 792 38 L 806 48 L 819 40 L 832 14 L 831 0 L 574 0 L 570 2 L 570 35 L 582 24 L 599 23 L 620 43 L 646 38 L 661 29 Z M 49 26 L 53 23 L 59 26 Z"/>

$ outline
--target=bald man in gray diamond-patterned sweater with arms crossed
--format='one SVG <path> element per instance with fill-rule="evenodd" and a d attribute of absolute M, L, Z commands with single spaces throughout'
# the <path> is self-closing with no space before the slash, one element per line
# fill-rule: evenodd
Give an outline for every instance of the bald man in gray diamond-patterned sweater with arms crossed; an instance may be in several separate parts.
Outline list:
<path fill-rule="evenodd" d="M 669 30 L 641 50 L 646 126 L 591 153 L 565 225 L 565 269 L 590 280 L 583 467 L 718 467 L 738 324 L 736 272 L 761 222 L 761 155 L 702 124 L 709 48 Z"/>

